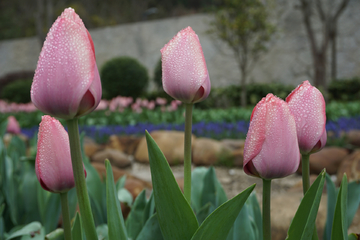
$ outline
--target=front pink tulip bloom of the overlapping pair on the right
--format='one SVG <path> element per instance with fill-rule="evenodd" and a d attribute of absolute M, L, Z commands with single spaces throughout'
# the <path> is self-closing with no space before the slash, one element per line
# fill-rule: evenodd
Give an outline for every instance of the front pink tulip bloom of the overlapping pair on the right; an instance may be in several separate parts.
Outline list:
<path fill-rule="evenodd" d="M 287 103 L 268 94 L 254 108 L 244 147 L 244 171 L 264 179 L 293 174 L 300 152 L 294 116 Z"/>

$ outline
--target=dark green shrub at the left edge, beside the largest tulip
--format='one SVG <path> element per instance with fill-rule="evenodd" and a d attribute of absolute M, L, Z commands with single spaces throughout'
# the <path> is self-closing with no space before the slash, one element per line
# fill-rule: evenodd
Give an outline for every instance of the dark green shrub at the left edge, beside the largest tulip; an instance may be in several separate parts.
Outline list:
<path fill-rule="evenodd" d="M 7 84 L 1 90 L 1 98 L 15 103 L 28 103 L 31 101 L 30 89 L 32 79 L 16 80 Z"/>

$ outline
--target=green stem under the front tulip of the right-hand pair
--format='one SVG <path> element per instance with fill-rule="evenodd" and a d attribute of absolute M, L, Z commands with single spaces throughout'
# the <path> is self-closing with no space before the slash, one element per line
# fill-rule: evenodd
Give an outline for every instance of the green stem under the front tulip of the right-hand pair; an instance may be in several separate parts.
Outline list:
<path fill-rule="evenodd" d="M 263 179 L 263 240 L 271 240 L 270 195 L 271 179 Z"/>

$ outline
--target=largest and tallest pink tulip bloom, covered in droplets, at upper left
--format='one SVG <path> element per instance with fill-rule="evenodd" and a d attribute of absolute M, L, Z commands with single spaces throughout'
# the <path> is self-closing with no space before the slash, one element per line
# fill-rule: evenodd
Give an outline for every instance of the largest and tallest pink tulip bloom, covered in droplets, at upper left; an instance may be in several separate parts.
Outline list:
<path fill-rule="evenodd" d="M 100 99 L 94 43 L 80 17 L 67 8 L 44 42 L 31 86 L 31 100 L 47 114 L 72 119 L 93 111 Z"/>

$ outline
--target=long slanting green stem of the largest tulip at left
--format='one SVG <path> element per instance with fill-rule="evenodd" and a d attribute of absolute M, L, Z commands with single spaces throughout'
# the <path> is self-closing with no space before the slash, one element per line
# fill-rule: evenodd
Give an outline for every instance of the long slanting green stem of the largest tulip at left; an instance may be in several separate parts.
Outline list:
<path fill-rule="evenodd" d="M 76 194 L 79 202 L 80 217 L 84 226 L 86 239 L 97 240 L 94 218 L 91 212 L 89 195 L 86 188 L 84 166 L 81 156 L 78 119 L 66 121 L 70 140 L 71 161 L 74 171 Z"/>

